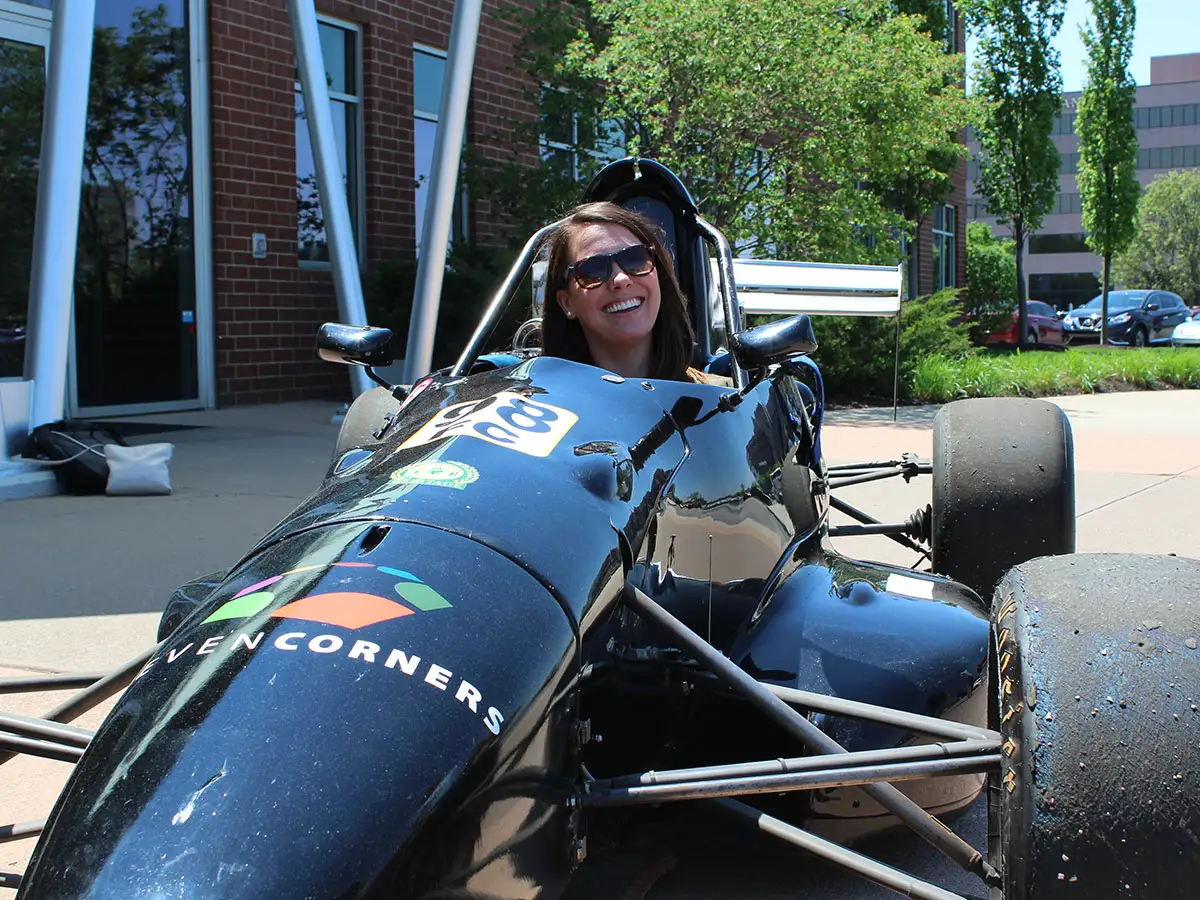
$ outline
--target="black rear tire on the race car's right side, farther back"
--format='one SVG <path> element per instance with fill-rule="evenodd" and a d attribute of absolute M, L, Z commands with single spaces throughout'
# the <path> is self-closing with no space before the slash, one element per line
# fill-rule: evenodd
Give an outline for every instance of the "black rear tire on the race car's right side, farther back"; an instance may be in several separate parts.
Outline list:
<path fill-rule="evenodd" d="M 1052 403 L 959 400 L 934 420 L 934 571 L 991 594 L 1010 566 L 1075 550 L 1070 424 Z"/>

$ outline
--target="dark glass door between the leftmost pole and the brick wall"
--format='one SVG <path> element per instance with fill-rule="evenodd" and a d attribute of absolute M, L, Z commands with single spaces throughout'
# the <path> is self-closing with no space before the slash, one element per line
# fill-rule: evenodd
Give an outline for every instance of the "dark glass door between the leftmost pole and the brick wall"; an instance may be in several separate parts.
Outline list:
<path fill-rule="evenodd" d="M 202 406 L 187 0 L 96 4 L 76 259 L 76 415 Z"/>

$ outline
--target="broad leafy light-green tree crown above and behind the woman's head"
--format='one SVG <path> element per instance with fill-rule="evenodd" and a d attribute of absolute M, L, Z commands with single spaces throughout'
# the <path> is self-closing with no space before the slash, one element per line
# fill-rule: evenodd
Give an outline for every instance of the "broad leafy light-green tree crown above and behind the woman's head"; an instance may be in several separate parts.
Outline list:
<path fill-rule="evenodd" d="M 562 89 L 544 91 L 542 126 L 547 101 L 594 120 L 576 158 L 607 139 L 659 160 L 742 251 L 892 262 L 906 220 L 888 191 L 908 179 L 932 205 L 970 109 L 961 56 L 901 6 L 932 5 L 547 0 L 522 59 L 532 83 Z M 540 199 L 557 200 L 552 166 L 540 168 Z"/>

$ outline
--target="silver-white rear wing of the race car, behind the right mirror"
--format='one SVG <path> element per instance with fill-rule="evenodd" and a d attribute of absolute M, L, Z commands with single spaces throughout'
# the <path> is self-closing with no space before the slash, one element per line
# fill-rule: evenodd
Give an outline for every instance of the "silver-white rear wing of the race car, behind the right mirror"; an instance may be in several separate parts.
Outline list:
<path fill-rule="evenodd" d="M 904 266 L 734 259 L 733 283 L 744 314 L 899 316 Z"/>

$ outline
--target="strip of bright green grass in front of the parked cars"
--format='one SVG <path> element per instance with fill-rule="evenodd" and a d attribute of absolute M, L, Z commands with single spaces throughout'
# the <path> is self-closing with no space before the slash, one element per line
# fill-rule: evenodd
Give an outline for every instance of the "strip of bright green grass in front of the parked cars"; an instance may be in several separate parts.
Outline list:
<path fill-rule="evenodd" d="M 1118 390 L 1200 388 L 1200 347 L 1068 347 L 980 353 L 965 359 L 929 356 L 912 378 L 911 400 L 946 403 L 961 397 L 1044 397 Z"/>

